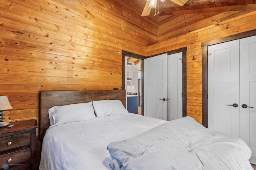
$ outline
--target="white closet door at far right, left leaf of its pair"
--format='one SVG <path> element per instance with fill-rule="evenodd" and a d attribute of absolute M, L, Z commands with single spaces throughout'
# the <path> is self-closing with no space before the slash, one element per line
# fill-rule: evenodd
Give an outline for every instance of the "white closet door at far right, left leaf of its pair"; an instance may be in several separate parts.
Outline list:
<path fill-rule="evenodd" d="M 239 105 L 239 40 L 208 46 L 208 128 L 239 138 Z"/>

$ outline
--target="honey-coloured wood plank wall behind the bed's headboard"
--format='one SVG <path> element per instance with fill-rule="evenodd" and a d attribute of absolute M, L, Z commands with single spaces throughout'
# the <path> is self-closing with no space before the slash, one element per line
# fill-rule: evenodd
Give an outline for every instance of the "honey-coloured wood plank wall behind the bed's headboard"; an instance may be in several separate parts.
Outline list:
<path fill-rule="evenodd" d="M 123 4 L 125 5 L 125 4 Z M 36 119 L 39 92 L 122 87 L 122 50 L 145 55 L 158 21 L 115 0 L 1 0 L 0 95 L 7 121 Z M 37 159 L 40 141 L 37 131 Z"/>

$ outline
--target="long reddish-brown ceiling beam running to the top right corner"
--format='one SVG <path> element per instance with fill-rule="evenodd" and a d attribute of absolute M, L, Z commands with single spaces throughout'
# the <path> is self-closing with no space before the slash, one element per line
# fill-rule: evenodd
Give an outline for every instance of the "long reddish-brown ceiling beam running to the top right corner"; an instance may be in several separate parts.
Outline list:
<path fill-rule="evenodd" d="M 164 12 L 164 14 L 162 15 L 198 14 L 198 13 L 208 13 L 208 12 L 220 13 L 220 12 L 228 12 L 228 11 L 244 11 L 244 10 L 255 10 L 255 9 L 256 9 L 256 4 L 247 4 L 247 5 L 203 8 L 203 9 L 195 9 L 195 10 L 170 11 L 170 12 Z"/>

